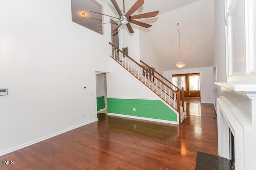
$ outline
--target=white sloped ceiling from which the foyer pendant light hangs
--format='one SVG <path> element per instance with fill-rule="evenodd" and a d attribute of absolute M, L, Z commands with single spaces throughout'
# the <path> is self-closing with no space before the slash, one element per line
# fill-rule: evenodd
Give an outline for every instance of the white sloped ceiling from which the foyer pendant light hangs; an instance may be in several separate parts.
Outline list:
<path fill-rule="evenodd" d="M 180 58 L 187 68 L 212 66 L 214 0 L 198 0 L 158 15 L 151 34 L 163 70 L 176 69 Z M 200 62 L 198 62 L 200 61 Z"/>

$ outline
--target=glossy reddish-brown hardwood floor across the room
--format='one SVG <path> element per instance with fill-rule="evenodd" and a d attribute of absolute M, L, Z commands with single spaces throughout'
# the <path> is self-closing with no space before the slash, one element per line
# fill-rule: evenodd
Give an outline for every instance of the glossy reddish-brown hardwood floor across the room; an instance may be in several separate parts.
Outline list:
<path fill-rule="evenodd" d="M 1 170 L 194 170 L 196 152 L 218 155 L 213 104 L 185 103 L 182 125 L 98 114 L 98 122 L 0 156 Z"/>

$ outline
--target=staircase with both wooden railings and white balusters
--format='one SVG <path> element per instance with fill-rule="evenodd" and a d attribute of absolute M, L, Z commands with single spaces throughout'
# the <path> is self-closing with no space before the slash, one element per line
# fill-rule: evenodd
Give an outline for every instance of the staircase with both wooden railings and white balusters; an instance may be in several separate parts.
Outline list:
<path fill-rule="evenodd" d="M 185 118 L 183 88 L 179 89 L 143 61 L 140 61 L 141 64 L 139 64 L 112 43 L 109 44 L 112 46 L 112 56 L 110 57 L 145 84 L 166 105 L 176 110 L 179 114 L 179 123 L 182 123 Z"/>

